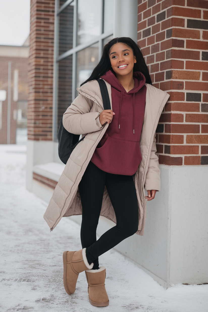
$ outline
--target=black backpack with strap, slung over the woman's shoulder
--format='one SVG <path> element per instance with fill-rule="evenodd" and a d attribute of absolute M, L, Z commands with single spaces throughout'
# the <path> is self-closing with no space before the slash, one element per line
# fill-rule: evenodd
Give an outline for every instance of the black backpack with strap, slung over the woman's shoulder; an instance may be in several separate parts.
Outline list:
<path fill-rule="evenodd" d="M 103 99 L 103 107 L 104 110 L 110 110 L 110 99 L 109 94 L 107 90 L 107 86 L 102 79 L 97 79 L 101 91 L 101 96 Z M 67 163 L 67 160 L 69 159 L 72 151 L 75 149 L 77 144 L 79 144 L 82 140 L 84 140 L 85 136 L 79 140 L 80 135 L 79 134 L 73 134 L 68 132 L 64 126 L 63 126 L 63 117 L 60 120 L 60 126 L 58 131 L 58 152 L 59 152 L 59 158 L 63 163 Z"/>

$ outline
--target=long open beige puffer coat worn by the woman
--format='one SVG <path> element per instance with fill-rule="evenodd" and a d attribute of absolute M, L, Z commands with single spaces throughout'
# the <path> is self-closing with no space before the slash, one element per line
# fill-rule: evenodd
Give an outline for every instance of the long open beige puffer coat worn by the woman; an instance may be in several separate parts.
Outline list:
<path fill-rule="evenodd" d="M 111 86 L 108 82 L 106 85 L 112 108 Z M 146 190 L 160 190 L 160 170 L 158 157 L 155 154 L 155 131 L 163 107 L 169 98 L 166 92 L 149 84 L 146 86 L 146 106 L 140 137 L 142 161 L 134 175 L 139 210 L 138 235 L 144 235 L 147 206 L 144 187 Z M 99 122 L 103 103 L 98 82 L 89 81 L 77 90 L 79 95 L 64 113 L 63 125 L 71 133 L 83 136 L 86 134 L 86 136 L 71 153 L 44 214 L 51 231 L 62 217 L 82 214 L 78 185 L 97 144 L 109 125 L 105 124 L 102 127 Z M 100 215 L 116 223 L 115 212 L 106 188 Z"/>

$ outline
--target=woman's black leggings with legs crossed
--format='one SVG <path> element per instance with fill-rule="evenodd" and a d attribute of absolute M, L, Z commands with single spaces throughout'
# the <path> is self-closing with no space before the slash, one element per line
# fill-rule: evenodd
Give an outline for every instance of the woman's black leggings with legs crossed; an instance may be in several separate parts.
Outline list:
<path fill-rule="evenodd" d="M 116 215 L 116 226 L 105 232 L 96 241 L 106 185 Z M 98 257 L 113 248 L 138 230 L 138 203 L 132 176 L 106 173 L 89 162 L 79 184 L 82 203 L 81 243 L 86 247 L 89 264 L 99 268 Z"/>

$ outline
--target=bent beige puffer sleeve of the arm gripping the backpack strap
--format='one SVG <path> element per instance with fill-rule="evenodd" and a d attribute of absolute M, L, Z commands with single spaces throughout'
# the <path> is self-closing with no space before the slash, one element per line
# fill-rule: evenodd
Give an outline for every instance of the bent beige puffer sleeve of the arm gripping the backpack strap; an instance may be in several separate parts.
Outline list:
<path fill-rule="evenodd" d="M 79 94 L 63 115 L 64 128 L 73 134 L 86 134 L 102 128 L 99 112 L 91 112 L 93 101 Z"/>

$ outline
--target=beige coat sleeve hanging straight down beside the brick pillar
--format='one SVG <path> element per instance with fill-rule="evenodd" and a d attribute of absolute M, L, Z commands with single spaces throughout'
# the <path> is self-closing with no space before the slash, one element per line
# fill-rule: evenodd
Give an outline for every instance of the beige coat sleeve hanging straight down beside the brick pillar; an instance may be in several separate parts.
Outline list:
<path fill-rule="evenodd" d="M 145 189 L 160 191 L 160 169 L 158 156 L 155 154 L 157 152 L 156 148 L 156 133 L 152 143 L 152 149 L 150 154 L 150 160 L 148 165 L 148 171 L 145 180 Z"/>

